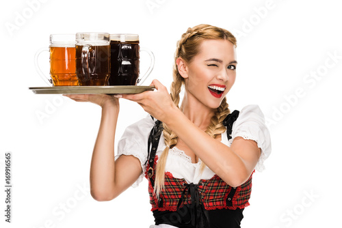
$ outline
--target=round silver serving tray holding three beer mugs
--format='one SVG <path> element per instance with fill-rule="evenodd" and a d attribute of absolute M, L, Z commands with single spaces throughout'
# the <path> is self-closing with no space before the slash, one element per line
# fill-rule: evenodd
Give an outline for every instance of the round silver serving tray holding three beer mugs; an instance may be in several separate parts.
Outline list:
<path fill-rule="evenodd" d="M 56 86 L 29 87 L 34 94 L 140 94 L 153 91 L 154 86 L 114 85 L 114 86 Z"/>

